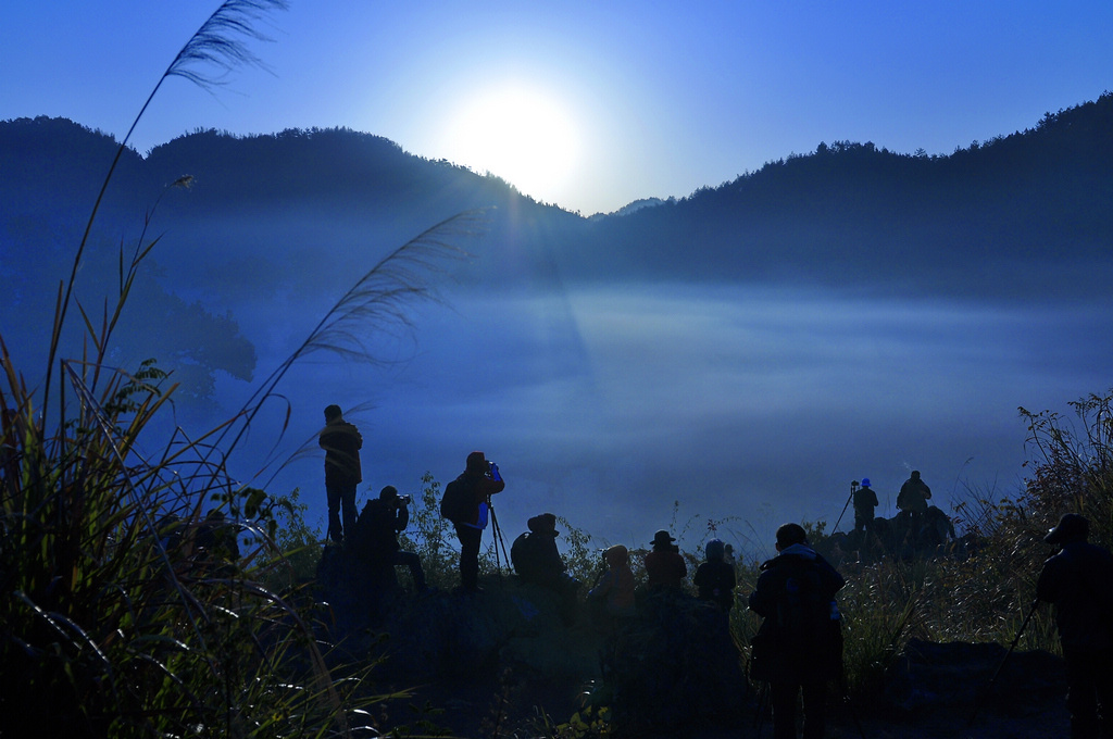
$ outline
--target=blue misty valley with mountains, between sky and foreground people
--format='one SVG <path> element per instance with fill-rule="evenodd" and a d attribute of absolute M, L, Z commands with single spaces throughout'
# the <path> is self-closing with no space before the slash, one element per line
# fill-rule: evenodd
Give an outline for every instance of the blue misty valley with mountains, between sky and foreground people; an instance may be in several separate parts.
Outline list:
<path fill-rule="evenodd" d="M 29 384 L 115 149 L 63 119 L 0 124 L 0 332 Z M 660 528 L 695 543 L 711 519 L 760 550 L 784 521 L 834 523 L 863 476 L 881 515 L 912 469 L 945 510 L 1014 490 L 1017 406 L 1113 384 L 1109 93 L 949 156 L 825 142 L 659 195 L 587 217 L 367 134 L 198 131 L 126 152 L 78 297 L 99 315 L 121 245 L 159 239 L 111 356 L 173 371 L 196 432 L 391 250 L 483 209 L 450 239 L 470 256 L 430 276 L 440 302 L 368 326 L 382 362 L 312 355 L 278 388 L 277 456 L 279 403 L 237 451 L 244 482 L 301 487 L 311 522 L 322 460 L 264 465 L 312 445 L 328 403 L 363 432 L 362 499 L 446 482 L 479 449 L 506 477 L 508 534 L 548 510 L 600 545 Z"/>

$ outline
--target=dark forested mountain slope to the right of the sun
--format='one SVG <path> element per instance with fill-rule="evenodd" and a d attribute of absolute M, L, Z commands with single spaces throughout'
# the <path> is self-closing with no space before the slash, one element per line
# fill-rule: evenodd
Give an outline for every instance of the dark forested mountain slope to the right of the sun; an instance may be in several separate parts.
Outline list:
<path fill-rule="evenodd" d="M 1031 295 L 1082 288 L 1071 279 L 1097 276 L 1095 262 L 1107 278 L 1111 205 L 1105 93 L 946 157 L 820 144 L 682 200 L 602 219 L 582 246 L 605 255 L 608 273 L 657 274 L 654 264 L 687 254 L 680 274 L 689 277 Z"/>

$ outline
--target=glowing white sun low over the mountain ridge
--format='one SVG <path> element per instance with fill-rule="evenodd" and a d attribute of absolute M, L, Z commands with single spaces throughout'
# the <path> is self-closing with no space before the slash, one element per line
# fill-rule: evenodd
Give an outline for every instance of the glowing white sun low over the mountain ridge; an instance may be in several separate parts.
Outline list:
<path fill-rule="evenodd" d="M 447 138 L 450 160 L 490 171 L 540 200 L 552 200 L 567 185 L 580 156 L 569 108 L 524 85 L 469 100 L 450 119 Z"/>

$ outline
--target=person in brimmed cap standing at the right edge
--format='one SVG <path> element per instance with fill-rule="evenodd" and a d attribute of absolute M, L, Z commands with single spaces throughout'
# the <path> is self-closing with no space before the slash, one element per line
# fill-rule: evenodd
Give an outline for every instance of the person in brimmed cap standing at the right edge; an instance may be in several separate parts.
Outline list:
<path fill-rule="evenodd" d="M 1036 581 L 1036 599 L 1055 604 L 1072 739 L 1113 737 L 1113 555 L 1089 535 L 1085 518 L 1064 515 L 1044 536 L 1060 549 Z"/>

